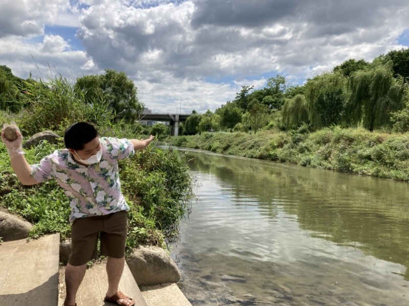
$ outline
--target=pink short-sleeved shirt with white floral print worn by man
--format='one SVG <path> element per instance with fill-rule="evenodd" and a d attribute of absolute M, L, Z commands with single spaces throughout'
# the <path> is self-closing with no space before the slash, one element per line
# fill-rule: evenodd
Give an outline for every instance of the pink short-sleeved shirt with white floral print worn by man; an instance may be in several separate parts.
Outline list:
<path fill-rule="evenodd" d="M 77 218 L 100 216 L 129 210 L 121 191 L 118 160 L 135 153 L 129 139 L 101 137 L 102 157 L 90 166 L 79 164 L 67 149 L 56 150 L 31 165 L 38 182 L 55 179 L 69 198 L 70 223 Z"/>

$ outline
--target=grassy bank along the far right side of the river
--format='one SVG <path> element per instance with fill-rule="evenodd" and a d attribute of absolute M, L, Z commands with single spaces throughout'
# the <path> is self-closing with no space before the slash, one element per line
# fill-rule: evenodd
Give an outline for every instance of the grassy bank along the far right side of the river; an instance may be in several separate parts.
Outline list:
<path fill-rule="evenodd" d="M 305 167 L 409 180 L 409 134 L 324 128 L 309 132 L 202 133 L 170 137 L 172 146 L 300 164 Z"/>

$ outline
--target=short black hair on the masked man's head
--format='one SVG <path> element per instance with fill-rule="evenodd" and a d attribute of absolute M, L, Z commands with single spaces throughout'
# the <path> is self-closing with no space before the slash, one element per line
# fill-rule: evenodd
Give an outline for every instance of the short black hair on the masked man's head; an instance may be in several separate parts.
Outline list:
<path fill-rule="evenodd" d="M 82 150 L 84 145 L 98 136 L 97 129 L 86 122 L 78 122 L 65 130 L 65 148 Z"/>

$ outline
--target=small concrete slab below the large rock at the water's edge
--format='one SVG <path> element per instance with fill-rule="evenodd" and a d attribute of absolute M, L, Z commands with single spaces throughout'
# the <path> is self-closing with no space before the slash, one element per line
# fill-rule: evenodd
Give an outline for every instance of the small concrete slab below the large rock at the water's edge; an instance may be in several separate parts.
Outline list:
<path fill-rule="evenodd" d="M 142 286 L 148 306 L 192 306 L 176 284 Z"/>

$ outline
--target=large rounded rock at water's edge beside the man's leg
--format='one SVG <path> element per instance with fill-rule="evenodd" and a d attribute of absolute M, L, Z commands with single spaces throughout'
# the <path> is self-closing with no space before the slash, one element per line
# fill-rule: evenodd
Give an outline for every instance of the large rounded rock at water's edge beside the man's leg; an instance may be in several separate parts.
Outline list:
<path fill-rule="evenodd" d="M 126 262 L 140 286 L 177 283 L 180 280 L 180 272 L 176 264 L 160 247 L 139 246 Z"/>

